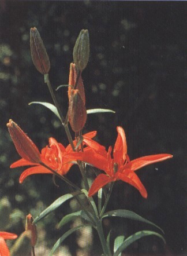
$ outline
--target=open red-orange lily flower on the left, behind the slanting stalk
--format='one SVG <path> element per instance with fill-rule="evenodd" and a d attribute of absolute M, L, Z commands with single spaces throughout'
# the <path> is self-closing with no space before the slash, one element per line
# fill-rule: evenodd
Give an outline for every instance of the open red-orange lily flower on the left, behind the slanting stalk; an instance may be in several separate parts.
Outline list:
<path fill-rule="evenodd" d="M 96 136 L 96 131 L 91 131 L 87 134 L 84 134 L 83 136 L 83 145 L 87 145 L 88 143 L 91 143 L 92 141 L 92 147 L 94 147 L 95 141 L 91 140 L 91 138 Z M 21 158 L 20 160 L 14 162 L 11 164 L 10 168 L 20 167 L 20 166 L 28 166 L 31 165 L 32 167 L 29 167 L 26 169 L 21 175 L 20 175 L 20 183 L 22 183 L 26 177 L 32 174 L 53 174 L 50 170 L 48 170 L 46 167 L 42 166 L 41 163 L 46 164 L 46 166 L 50 167 L 51 169 L 57 171 L 61 175 L 65 175 L 68 173 L 70 167 L 73 165 L 71 162 L 74 159 L 71 158 L 71 153 L 73 152 L 72 147 L 70 144 L 68 147 L 63 147 L 61 143 L 58 143 L 55 138 L 49 138 L 49 146 L 46 146 L 42 149 L 40 153 L 40 163 L 31 162 L 25 158 Z M 74 146 L 76 147 L 76 141 L 73 141 Z M 87 147 L 88 148 L 88 147 Z M 84 150 L 87 151 L 88 149 L 85 148 Z M 78 152 L 74 152 L 76 155 Z M 79 155 L 77 155 L 76 160 L 81 160 Z"/>

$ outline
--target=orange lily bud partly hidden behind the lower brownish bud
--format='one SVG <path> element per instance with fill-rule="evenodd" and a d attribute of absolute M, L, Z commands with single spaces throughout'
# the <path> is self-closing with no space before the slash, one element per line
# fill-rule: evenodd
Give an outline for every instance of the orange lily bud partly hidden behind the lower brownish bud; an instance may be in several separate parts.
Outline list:
<path fill-rule="evenodd" d="M 76 79 L 77 79 L 77 68 L 76 65 L 74 63 L 70 64 L 70 71 L 69 71 L 69 85 L 72 85 L 74 87 L 74 85 L 76 84 Z M 78 92 L 84 102 L 85 105 L 85 93 L 84 93 L 84 84 L 83 84 L 83 79 L 81 78 L 81 75 L 79 76 L 78 79 L 78 83 L 77 83 L 77 89 Z M 72 92 L 72 87 L 69 86 L 68 87 L 68 98 L 70 101 L 70 96 L 71 96 L 71 92 Z"/>

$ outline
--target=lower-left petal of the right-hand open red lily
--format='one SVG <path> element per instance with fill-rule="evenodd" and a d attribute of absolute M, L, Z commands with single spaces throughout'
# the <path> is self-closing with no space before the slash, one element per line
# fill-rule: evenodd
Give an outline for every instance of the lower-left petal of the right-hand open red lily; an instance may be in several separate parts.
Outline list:
<path fill-rule="evenodd" d="M 88 196 L 93 196 L 100 188 L 103 188 L 106 184 L 113 181 L 112 178 L 108 177 L 105 174 L 99 174 L 98 177 L 95 178 L 94 182 L 89 189 Z"/>

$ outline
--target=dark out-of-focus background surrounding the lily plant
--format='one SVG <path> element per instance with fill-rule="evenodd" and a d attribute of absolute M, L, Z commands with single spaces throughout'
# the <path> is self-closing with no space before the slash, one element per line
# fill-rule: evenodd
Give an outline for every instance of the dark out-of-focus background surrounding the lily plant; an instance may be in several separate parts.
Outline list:
<path fill-rule="evenodd" d="M 169 255 L 185 255 L 186 5 L 186 2 L 0 2 L 0 198 L 8 198 L 13 213 L 15 209 L 19 211 L 21 220 L 29 212 L 36 217 L 43 207 L 67 192 L 64 184 L 58 189 L 49 175 L 31 176 L 20 185 L 18 177 L 22 169 L 9 169 L 19 159 L 6 129 L 10 118 L 39 149 L 47 145 L 50 136 L 68 144 L 52 112 L 42 106 L 28 106 L 31 101 L 52 103 L 43 76 L 32 63 L 29 30 L 37 27 L 43 38 L 55 89 L 68 83 L 74 42 L 80 30 L 87 28 L 91 42 L 89 63 L 83 72 L 87 109 L 110 108 L 116 114 L 88 116 L 85 131 L 98 130 L 97 140 L 108 148 L 114 144 L 116 126 L 120 125 L 126 132 L 130 159 L 154 153 L 174 156 L 138 171 L 148 191 L 147 200 L 133 187 L 118 182 L 109 210 L 133 210 L 155 222 L 164 229 Z M 58 92 L 64 115 L 68 106 L 66 91 L 63 88 Z M 73 168 L 69 177 L 76 181 L 80 175 Z M 54 226 L 66 213 L 68 204 L 44 221 L 49 247 L 62 235 Z M 13 226 L 16 233 L 23 232 L 22 223 Z M 111 225 L 114 233 L 122 232 L 123 226 L 128 235 L 150 228 L 119 219 L 110 220 Z M 94 242 L 99 247 L 97 238 Z M 72 240 L 67 243 L 71 246 Z M 160 241 L 157 243 L 154 255 L 164 252 Z M 151 245 L 146 244 L 152 241 L 145 239 L 144 243 L 129 248 L 129 252 L 152 253 Z"/>

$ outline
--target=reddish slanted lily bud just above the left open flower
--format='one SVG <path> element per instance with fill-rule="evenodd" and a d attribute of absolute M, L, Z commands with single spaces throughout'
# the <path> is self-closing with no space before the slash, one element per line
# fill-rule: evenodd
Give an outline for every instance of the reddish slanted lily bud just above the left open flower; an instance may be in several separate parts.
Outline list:
<path fill-rule="evenodd" d="M 32 140 L 24 133 L 24 131 L 21 130 L 21 128 L 11 119 L 9 120 L 7 126 L 16 150 L 21 158 L 24 158 L 32 163 L 40 163 L 40 152 Z"/>

